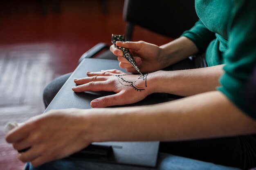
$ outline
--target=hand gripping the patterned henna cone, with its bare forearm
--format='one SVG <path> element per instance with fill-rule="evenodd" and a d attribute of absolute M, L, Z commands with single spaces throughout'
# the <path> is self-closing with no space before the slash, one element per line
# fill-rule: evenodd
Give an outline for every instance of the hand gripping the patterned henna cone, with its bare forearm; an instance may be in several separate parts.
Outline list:
<path fill-rule="evenodd" d="M 157 46 L 144 41 L 117 42 L 117 46 L 123 46 L 130 50 L 142 72 L 158 71 L 171 64 L 175 64 L 185 58 L 198 53 L 195 44 L 186 37 L 180 37 L 168 44 Z M 110 46 L 110 51 L 118 56 L 121 68 L 128 72 L 137 73 L 132 65 L 123 57 L 123 52 Z"/>

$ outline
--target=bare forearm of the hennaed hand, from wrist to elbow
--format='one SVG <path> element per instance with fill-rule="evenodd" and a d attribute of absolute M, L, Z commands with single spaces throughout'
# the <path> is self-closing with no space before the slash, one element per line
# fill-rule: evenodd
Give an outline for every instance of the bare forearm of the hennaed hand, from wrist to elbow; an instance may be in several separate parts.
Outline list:
<path fill-rule="evenodd" d="M 214 91 L 223 74 L 223 65 L 180 71 L 157 71 L 148 76 L 148 86 L 153 93 L 170 93 L 190 96 Z"/>

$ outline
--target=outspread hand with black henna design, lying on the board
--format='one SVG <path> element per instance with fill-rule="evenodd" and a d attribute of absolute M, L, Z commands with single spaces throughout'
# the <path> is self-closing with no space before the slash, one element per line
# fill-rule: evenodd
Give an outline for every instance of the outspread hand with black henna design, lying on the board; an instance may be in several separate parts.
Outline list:
<path fill-rule="evenodd" d="M 89 72 L 87 75 L 89 77 L 74 79 L 74 82 L 79 85 L 72 88 L 74 92 L 113 91 L 116 93 L 92 100 L 91 106 L 94 108 L 132 104 L 153 93 L 150 84 L 151 74 L 129 75 L 118 70 L 108 70 Z"/>

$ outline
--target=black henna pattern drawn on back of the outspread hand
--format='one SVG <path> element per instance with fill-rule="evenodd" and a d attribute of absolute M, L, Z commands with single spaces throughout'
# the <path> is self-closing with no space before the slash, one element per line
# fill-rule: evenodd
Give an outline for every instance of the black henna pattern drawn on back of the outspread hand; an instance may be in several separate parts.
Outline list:
<path fill-rule="evenodd" d="M 149 73 L 143 74 L 143 75 L 138 75 L 138 79 L 143 79 L 145 81 L 145 87 L 147 87 L 147 76 Z M 123 75 L 114 75 L 115 77 L 118 78 L 119 82 L 124 85 L 124 86 L 130 86 L 134 88 L 136 91 L 143 91 L 145 90 L 145 87 L 139 87 L 136 85 L 137 81 L 130 81 L 126 79 L 124 76 L 125 75 L 130 75 L 130 74 L 123 74 Z"/>

